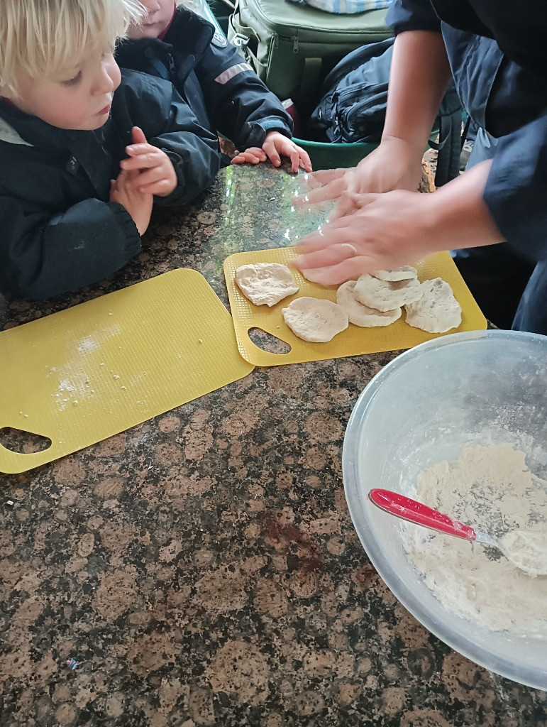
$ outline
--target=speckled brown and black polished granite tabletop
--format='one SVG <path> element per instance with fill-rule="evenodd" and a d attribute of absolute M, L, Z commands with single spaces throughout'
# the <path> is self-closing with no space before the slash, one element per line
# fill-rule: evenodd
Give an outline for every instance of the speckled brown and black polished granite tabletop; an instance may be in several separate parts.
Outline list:
<path fill-rule="evenodd" d="M 227 254 L 316 222 L 291 214 L 296 184 L 227 169 L 187 214 L 155 214 L 116 278 L 44 304 L 0 298 L 0 328 L 178 266 L 226 302 Z M 256 369 L 0 475 L 1 726 L 547 727 L 546 694 L 429 634 L 354 533 L 344 428 L 394 355 Z"/>

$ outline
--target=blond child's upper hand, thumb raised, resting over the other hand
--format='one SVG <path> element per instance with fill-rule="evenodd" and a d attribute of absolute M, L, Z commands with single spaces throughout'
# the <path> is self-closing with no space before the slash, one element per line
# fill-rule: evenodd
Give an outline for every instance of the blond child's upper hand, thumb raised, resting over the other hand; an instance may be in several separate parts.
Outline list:
<path fill-rule="evenodd" d="M 123 170 L 137 172 L 131 178 L 131 186 L 142 193 L 169 196 L 178 183 L 171 159 L 164 151 L 149 144 L 138 126 L 133 127 L 132 135 L 133 143 L 126 146 L 129 158 L 120 162 Z"/>

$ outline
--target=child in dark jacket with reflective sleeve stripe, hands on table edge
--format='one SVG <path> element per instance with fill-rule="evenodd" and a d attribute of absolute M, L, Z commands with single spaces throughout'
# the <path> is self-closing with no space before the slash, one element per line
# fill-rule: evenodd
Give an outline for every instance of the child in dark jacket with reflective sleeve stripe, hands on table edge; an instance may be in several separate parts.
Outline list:
<path fill-rule="evenodd" d="M 169 79 L 200 124 L 235 143 L 232 164 L 269 158 L 280 166 L 286 156 L 293 172 L 311 172 L 307 152 L 291 140 L 291 117 L 237 49 L 181 0 L 141 1 L 147 15 L 118 46 L 121 67 Z"/>

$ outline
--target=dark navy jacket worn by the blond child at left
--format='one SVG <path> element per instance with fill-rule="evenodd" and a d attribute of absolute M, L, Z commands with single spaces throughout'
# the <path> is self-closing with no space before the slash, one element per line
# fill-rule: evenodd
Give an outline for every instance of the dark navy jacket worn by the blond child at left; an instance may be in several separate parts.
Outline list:
<path fill-rule="evenodd" d="M 177 188 L 155 204 L 186 204 L 211 185 L 218 138 L 167 81 L 124 72 L 110 119 L 94 132 L 58 129 L 0 101 L 1 291 L 35 299 L 75 291 L 139 252 L 131 216 L 109 201 L 132 126 L 177 172 Z"/>

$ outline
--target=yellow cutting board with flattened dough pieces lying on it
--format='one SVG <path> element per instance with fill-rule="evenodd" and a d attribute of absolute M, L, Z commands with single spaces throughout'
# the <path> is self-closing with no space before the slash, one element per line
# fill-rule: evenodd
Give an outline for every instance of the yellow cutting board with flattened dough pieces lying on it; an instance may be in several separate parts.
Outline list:
<path fill-rule="evenodd" d="M 235 326 L 235 336 L 241 356 L 254 366 L 279 366 L 280 364 L 301 364 L 304 361 L 321 361 L 341 356 L 358 356 L 362 353 L 378 353 L 412 348 L 436 338 L 431 334 L 413 328 L 405 323 L 405 314 L 391 326 L 378 328 L 360 328 L 349 324 L 348 328 L 335 336 L 328 343 L 309 343 L 296 337 L 283 321 L 281 309 L 295 298 L 311 296 L 326 298 L 336 302 L 336 286 L 325 288 L 317 283 L 307 281 L 299 270 L 291 268 L 299 292 L 286 297 L 277 305 L 254 305 L 248 300 L 235 283 L 235 270 L 240 265 L 256 262 L 281 262 L 291 267 L 291 261 L 297 256 L 293 247 L 282 247 L 273 250 L 257 250 L 254 252 L 238 252 L 224 260 L 224 276 L 228 287 L 228 297 Z M 460 331 L 479 331 L 487 327 L 485 316 L 469 292 L 458 268 L 454 265 L 450 253 L 439 252 L 416 265 L 420 281 L 431 278 L 442 278 L 452 286 L 456 300 L 461 305 L 461 325 L 448 333 Z M 263 331 L 282 340 L 291 347 L 288 353 L 271 353 L 259 348 L 248 335 L 253 329 Z"/>

